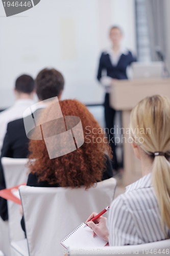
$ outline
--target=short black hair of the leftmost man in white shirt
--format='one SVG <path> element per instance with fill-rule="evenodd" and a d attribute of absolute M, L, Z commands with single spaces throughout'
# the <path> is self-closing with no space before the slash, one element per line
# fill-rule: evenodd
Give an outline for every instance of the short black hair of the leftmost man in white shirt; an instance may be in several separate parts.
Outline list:
<path fill-rule="evenodd" d="M 34 79 L 29 75 L 21 75 L 15 81 L 15 90 L 18 93 L 31 94 L 34 91 Z"/>

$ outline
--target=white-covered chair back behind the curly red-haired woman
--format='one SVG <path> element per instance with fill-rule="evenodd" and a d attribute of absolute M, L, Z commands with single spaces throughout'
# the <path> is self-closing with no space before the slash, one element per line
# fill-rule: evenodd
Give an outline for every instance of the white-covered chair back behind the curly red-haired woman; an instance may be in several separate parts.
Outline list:
<path fill-rule="evenodd" d="M 110 205 L 115 187 L 114 178 L 88 190 L 20 186 L 30 256 L 63 255 L 60 240 L 85 222 L 92 211 L 100 212 Z"/>

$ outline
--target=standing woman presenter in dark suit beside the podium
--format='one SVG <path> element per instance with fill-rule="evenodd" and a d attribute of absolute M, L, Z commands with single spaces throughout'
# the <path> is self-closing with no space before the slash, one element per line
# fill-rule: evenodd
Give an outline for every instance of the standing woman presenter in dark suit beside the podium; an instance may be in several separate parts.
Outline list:
<path fill-rule="evenodd" d="M 127 67 L 131 65 L 133 61 L 136 61 L 132 53 L 121 46 L 123 38 L 122 30 L 114 26 L 110 29 L 110 40 L 112 47 L 107 51 L 102 52 L 99 61 L 98 80 L 105 87 L 105 122 L 108 131 L 108 139 L 113 152 L 113 169 L 117 170 L 117 158 L 115 153 L 114 136 L 111 133 L 111 129 L 114 127 L 115 110 L 110 107 L 109 93 L 110 86 L 113 79 L 128 79 Z"/>

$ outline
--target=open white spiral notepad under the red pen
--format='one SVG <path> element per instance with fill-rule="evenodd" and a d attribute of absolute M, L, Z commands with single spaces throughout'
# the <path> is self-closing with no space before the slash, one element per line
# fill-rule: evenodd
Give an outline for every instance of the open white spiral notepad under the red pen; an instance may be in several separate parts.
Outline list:
<path fill-rule="evenodd" d="M 92 236 L 93 231 L 86 227 L 85 223 L 79 224 L 74 230 L 72 230 L 65 238 L 63 238 L 60 243 L 68 249 L 72 246 L 105 246 L 107 242 L 98 236 Z"/>

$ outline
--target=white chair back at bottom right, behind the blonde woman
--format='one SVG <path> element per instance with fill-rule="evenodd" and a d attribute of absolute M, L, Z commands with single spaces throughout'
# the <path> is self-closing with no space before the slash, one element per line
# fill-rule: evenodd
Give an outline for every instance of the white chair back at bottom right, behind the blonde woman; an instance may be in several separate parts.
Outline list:
<path fill-rule="evenodd" d="M 64 253 L 68 253 L 70 256 L 77 256 L 77 255 L 88 255 L 88 254 L 95 254 L 99 256 L 103 255 L 169 255 L 170 254 L 170 239 L 158 241 L 154 243 L 148 244 L 140 244 L 140 245 L 126 245 L 126 246 L 105 246 L 105 247 L 84 247 L 84 248 L 73 248 L 70 247 L 68 250 L 64 250 Z M 92 252 L 92 253 L 91 253 Z"/>

